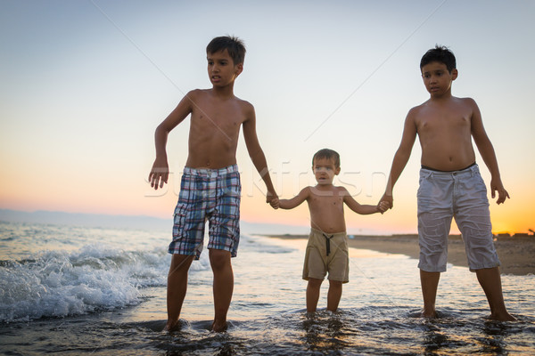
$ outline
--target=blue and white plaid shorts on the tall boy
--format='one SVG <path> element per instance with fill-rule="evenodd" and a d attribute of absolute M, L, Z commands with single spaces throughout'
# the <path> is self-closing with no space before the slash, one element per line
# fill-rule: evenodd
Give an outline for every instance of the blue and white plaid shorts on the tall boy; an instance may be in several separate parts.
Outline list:
<path fill-rule="evenodd" d="M 240 242 L 241 194 L 240 173 L 236 165 L 220 169 L 185 167 L 169 254 L 194 255 L 198 260 L 208 220 L 208 248 L 229 251 L 235 257 Z"/>

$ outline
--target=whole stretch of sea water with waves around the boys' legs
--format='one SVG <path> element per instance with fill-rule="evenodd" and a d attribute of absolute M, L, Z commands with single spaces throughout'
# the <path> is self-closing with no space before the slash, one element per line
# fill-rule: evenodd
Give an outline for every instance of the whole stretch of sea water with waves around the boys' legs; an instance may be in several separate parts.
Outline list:
<path fill-rule="evenodd" d="M 518 321 L 487 320 L 474 273 L 442 273 L 439 318 L 418 318 L 417 261 L 350 249 L 338 312 L 305 310 L 304 239 L 244 234 L 228 329 L 210 332 L 207 251 L 193 262 L 181 328 L 167 320 L 170 231 L 0 223 L 2 355 L 535 355 L 535 276 L 502 275 Z"/>

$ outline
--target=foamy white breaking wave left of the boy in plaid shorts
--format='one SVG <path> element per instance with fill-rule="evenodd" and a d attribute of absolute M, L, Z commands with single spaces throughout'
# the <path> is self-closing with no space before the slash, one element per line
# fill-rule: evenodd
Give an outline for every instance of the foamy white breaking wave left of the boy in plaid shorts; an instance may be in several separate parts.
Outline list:
<path fill-rule="evenodd" d="M 110 311 L 141 303 L 144 287 L 165 286 L 166 251 L 87 245 L 0 263 L 0 321 Z"/>

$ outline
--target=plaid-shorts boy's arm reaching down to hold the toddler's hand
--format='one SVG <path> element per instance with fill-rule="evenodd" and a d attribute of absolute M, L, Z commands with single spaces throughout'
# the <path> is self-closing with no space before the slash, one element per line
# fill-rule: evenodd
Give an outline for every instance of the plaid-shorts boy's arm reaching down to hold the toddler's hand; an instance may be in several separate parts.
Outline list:
<path fill-rule="evenodd" d="M 249 108 L 247 108 L 247 118 L 243 121 L 243 138 L 245 139 L 245 145 L 247 146 L 247 151 L 249 152 L 249 157 L 251 157 L 252 164 L 255 166 L 260 177 L 266 184 L 268 190 L 266 193 L 266 202 L 269 203 L 272 199 L 277 198 L 277 196 L 273 183 L 271 182 L 271 177 L 269 176 L 268 162 L 266 161 L 264 151 L 260 147 L 259 138 L 256 133 L 256 116 L 254 108 L 250 103 L 247 103 L 247 105 Z"/>

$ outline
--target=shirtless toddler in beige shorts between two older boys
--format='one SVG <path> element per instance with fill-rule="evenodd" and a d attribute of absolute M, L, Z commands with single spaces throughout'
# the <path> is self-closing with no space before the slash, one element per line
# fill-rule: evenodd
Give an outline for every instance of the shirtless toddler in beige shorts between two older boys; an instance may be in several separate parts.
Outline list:
<path fill-rule="evenodd" d="M 344 187 L 333 185 L 340 173 L 340 156 L 333 150 L 319 150 L 312 158 L 317 185 L 307 187 L 291 199 L 274 199 L 275 208 L 292 209 L 307 201 L 310 211 L 310 235 L 305 254 L 303 279 L 307 285 L 307 312 L 316 312 L 319 289 L 329 273 L 327 311 L 336 312 L 342 297 L 342 283 L 349 281 L 350 259 L 343 204 L 355 213 L 374 214 L 388 209 L 385 202 L 377 206 L 360 205 Z"/>

